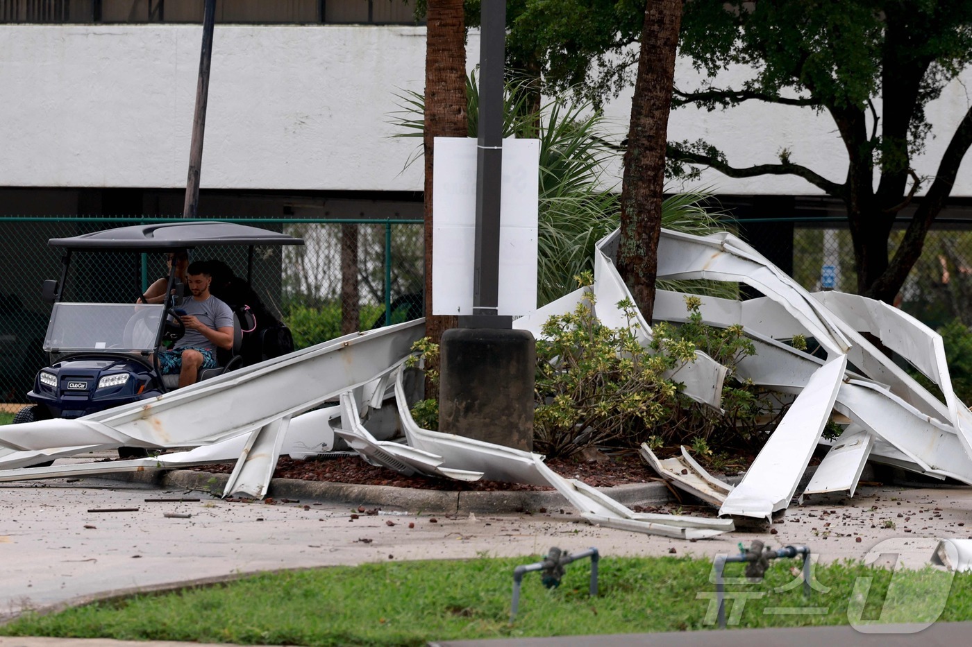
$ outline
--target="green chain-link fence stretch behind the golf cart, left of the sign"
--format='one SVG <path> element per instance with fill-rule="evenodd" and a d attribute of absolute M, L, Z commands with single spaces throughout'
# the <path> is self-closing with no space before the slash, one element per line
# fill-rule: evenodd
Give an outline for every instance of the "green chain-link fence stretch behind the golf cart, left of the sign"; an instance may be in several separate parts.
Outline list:
<path fill-rule="evenodd" d="M 0 402 L 23 402 L 47 365 L 44 336 L 51 306 L 41 284 L 59 279 L 61 251 L 51 238 L 127 224 L 178 219 L 0 218 Z M 303 246 L 257 248 L 252 287 L 286 323 L 295 347 L 347 332 L 422 316 L 422 221 L 225 219 L 304 239 Z M 191 260 L 221 260 L 246 278 L 246 247 L 198 247 Z M 164 254 L 76 253 L 62 298 L 128 303 L 166 275 Z"/>

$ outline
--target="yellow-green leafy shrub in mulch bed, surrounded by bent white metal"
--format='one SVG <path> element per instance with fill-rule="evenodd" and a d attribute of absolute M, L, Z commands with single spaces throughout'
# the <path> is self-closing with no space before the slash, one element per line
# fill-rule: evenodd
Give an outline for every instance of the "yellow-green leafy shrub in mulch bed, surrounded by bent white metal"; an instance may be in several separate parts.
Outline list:
<path fill-rule="evenodd" d="M 549 458 L 572 456 L 586 447 L 634 449 L 647 442 L 652 448 L 693 447 L 700 460 L 723 461 L 728 448 L 755 449 L 765 441 L 765 426 L 775 422 L 764 392 L 740 380 L 735 368 L 741 358 L 755 354 L 740 325 L 716 328 L 702 323 L 698 297 L 685 298 L 689 318 L 676 326 L 657 323 L 653 339 L 642 347 L 637 336 L 635 305 L 618 303 L 627 325 L 610 328 L 594 315 L 595 297 L 573 312 L 551 317 L 537 341 L 534 448 Z M 433 383 L 438 348 L 428 339 L 413 350 L 426 362 Z M 682 394 L 677 367 L 707 353 L 729 369 L 723 383 L 722 412 Z M 781 412 L 775 412 L 777 416 Z M 435 399 L 417 402 L 412 416 L 425 428 L 438 424 Z M 713 452 L 718 448 L 719 452 Z"/>

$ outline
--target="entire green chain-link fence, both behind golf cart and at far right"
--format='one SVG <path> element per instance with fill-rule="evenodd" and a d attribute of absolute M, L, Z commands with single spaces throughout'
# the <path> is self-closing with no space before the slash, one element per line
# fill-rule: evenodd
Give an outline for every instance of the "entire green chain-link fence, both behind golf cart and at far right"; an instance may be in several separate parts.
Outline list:
<path fill-rule="evenodd" d="M 41 283 L 60 277 L 60 253 L 48 246 L 48 240 L 165 220 L 0 218 L 0 401 L 22 402 L 37 370 L 48 361 L 42 344 L 51 306 L 41 300 Z M 258 250 L 252 275 L 253 288 L 270 312 L 291 328 L 297 348 L 422 316 L 421 221 L 231 221 L 304 239 L 304 246 Z M 855 291 L 846 221 L 765 222 L 792 224 L 792 243 L 781 240 L 781 253 L 788 255 L 785 248 L 791 248 L 792 275 L 800 285 L 812 291 Z M 759 224 L 749 221 L 746 226 Z M 902 233 L 892 233 L 892 250 Z M 223 260 L 237 276 L 247 276 L 245 247 L 200 247 L 191 251 L 191 258 Z M 161 254 L 76 255 L 64 297 L 132 302 L 166 269 Z M 972 323 L 972 229 L 964 222 L 936 222 L 901 291 L 899 305 L 932 327 L 955 320 Z"/>

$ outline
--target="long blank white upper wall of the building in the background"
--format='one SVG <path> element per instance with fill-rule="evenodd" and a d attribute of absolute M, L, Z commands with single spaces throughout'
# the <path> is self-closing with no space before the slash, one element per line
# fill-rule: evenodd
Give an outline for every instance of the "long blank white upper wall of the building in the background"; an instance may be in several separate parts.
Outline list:
<path fill-rule="evenodd" d="M 190 25 L 0 26 L 0 187 L 185 187 L 201 28 Z M 391 139 L 399 88 L 422 90 L 425 28 L 216 27 L 201 185 L 205 188 L 420 190 L 402 172 L 417 138 Z M 469 36 L 469 65 L 478 37 Z M 697 81 L 684 62 L 678 85 Z M 928 108 L 935 162 L 970 105 L 955 83 Z M 631 92 L 608 105 L 626 131 Z M 833 122 L 808 109 L 751 103 L 730 112 L 676 111 L 670 139 L 706 139 L 735 166 L 794 162 L 843 182 Z M 953 195 L 972 196 L 972 155 Z M 695 186 L 736 194 L 820 194 L 789 176 Z M 679 188 L 678 186 L 673 188 Z"/>

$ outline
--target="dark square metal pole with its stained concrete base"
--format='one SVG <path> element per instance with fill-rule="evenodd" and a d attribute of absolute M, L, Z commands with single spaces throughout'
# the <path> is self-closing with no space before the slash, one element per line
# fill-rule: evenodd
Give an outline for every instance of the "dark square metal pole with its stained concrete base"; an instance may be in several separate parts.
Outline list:
<path fill-rule="evenodd" d="M 529 330 L 513 330 L 511 315 L 500 315 L 506 3 L 485 0 L 480 12 L 472 314 L 459 318 L 461 327 L 442 333 L 438 428 L 531 452 L 536 340 Z"/>

